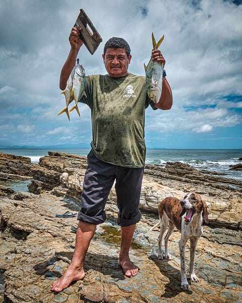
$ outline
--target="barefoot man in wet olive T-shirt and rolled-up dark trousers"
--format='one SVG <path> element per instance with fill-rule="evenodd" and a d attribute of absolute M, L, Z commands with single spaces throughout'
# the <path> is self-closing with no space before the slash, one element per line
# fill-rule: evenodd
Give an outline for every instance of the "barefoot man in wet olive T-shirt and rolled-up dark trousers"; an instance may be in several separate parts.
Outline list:
<path fill-rule="evenodd" d="M 59 84 L 63 90 L 83 44 L 80 31 L 81 28 L 73 27 L 69 37 L 71 51 Z M 146 151 L 144 113 L 149 104 L 153 109 L 169 110 L 172 92 L 164 77 L 160 101 L 152 104 L 146 93 L 145 77 L 128 72 L 131 57 L 129 44 L 113 37 L 106 42 L 102 55 L 107 75 L 86 77 L 85 95 L 80 102 L 91 108 L 92 149 L 88 154 L 73 259 L 64 275 L 53 282 L 51 290 L 55 292 L 84 278 L 84 259 L 96 225 L 106 219 L 104 207 L 114 180 L 119 209 L 117 223 L 121 229 L 118 264 L 127 277 L 138 273 L 129 258 L 129 249 L 136 223 L 141 219 L 139 200 Z M 165 64 L 158 49 L 152 51 L 151 58 Z"/>

